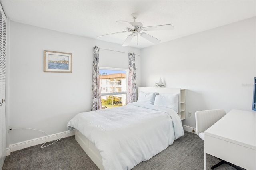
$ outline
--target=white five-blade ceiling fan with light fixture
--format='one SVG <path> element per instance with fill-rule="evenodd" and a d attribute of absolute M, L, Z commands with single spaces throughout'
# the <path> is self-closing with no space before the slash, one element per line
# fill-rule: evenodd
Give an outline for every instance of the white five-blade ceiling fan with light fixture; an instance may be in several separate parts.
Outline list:
<path fill-rule="evenodd" d="M 131 32 L 132 34 L 127 36 L 127 38 L 124 41 L 122 46 L 128 46 L 134 36 L 137 36 L 137 45 L 138 45 L 138 34 L 140 34 L 140 36 L 142 36 L 146 40 L 156 44 L 156 43 L 160 43 L 161 41 L 153 36 L 150 36 L 146 32 L 141 32 L 141 31 L 172 30 L 173 29 L 173 26 L 171 24 L 143 27 L 143 24 L 141 22 L 135 21 L 138 17 L 137 13 L 133 13 L 133 14 L 131 14 L 131 16 L 134 19 L 134 22 L 116 21 L 116 22 L 125 24 L 127 27 L 126 28 L 127 31 L 115 32 L 115 33 L 111 33 L 111 34 L 105 34 L 102 36 L 108 36 L 108 35 L 119 34 L 119 33 L 124 33 L 124 32 Z M 98 38 L 102 37 L 102 36 L 98 36 Z"/>

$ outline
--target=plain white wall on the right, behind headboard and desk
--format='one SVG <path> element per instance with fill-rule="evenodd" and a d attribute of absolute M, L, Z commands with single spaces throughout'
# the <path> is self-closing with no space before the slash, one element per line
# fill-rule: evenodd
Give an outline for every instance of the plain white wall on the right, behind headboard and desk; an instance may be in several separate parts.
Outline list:
<path fill-rule="evenodd" d="M 166 87 L 187 89 L 182 124 L 190 127 L 196 127 L 194 113 L 199 110 L 252 111 L 255 21 L 249 18 L 142 49 L 142 86 L 152 87 L 162 77 Z"/>

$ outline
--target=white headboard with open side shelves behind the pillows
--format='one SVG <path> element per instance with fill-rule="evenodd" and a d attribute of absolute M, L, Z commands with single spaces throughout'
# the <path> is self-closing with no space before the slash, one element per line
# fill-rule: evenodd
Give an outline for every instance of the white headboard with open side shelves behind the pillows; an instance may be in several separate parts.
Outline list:
<path fill-rule="evenodd" d="M 140 91 L 148 92 L 148 93 L 159 93 L 160 95 L 165 94 L 174 94 L 179 93 L 179 109 L 178 109 L 178 115 L 181 120 L 185 119 L 185 89 L 180 88 L 163 88 L 163 87 L 139 87 L 138 92 L 140 94 Z"/>

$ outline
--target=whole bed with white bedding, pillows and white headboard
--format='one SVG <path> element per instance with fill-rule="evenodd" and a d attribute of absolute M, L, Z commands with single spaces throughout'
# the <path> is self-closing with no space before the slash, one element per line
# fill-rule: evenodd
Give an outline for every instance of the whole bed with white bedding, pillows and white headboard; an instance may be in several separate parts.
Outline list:
<path fill-rule="evenodd" d="M 139 87 L 138 92 L 137 102 L 79 113 L 68 122 L 100 170 L 132 169 L 184 135 L 179 88 Z"/>

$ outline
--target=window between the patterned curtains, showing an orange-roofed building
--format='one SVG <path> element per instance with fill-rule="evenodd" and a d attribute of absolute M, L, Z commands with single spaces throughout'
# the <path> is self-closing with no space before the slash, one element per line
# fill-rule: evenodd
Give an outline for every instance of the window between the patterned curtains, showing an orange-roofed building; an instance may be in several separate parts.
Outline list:
<path fill-rule="evenodd" d="M 100 67 L 100 81 L 106 82 L 101 84 L 102 108 L 126 105 L 127 74 L 128 69 Z"/>

